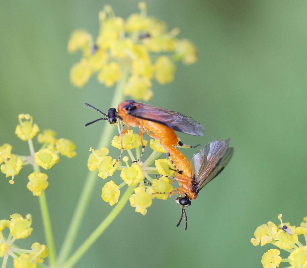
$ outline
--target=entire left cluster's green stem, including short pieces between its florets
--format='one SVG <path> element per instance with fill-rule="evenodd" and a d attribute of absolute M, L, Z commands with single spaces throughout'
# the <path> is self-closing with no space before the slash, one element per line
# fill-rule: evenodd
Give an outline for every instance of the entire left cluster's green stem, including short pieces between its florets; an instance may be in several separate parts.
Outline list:
<path fill-rule="evenodd" d="M 32 139 L 29 139 L 28 143 L 29 143 L 31 156 L 34 157 L 35 150 L 34 150 Z M 36 173 L 40 172 L 40 168 L 39 168 L 39 166 L 37 166 L 36 163 L 33 164 L 33 169 Z M 54 238 L 53 238 L 53 233 L 52 233 L 51 220 L 50 220 L 50 216 L 49 216 L 49 210 L 48 210 L 45 192 L 43 192 L 38 197 L 38 200 L 39 200 L 39 204 L 40 204 L 40 207 L 41 207 L 41 216 L 42 216 L 43 224 L 44 224 L 45 239 L 46 239 L 47 247 L 49 249 L 49 264 L 51 266 L 54 266 L 56 264 L 56 249 L 55 249 L 55 245 L 54 245 Z"/>

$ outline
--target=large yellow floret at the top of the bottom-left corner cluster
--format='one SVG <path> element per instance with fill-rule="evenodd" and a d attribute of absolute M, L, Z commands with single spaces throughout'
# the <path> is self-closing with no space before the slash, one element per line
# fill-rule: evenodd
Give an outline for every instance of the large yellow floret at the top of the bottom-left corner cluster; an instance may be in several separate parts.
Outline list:
<path fill-rule="evenodd" d="M 32 224 L 31 214 L 27 214 L 24 219 L 20 214 L 15 213 L 10 215 L 10 218 L 8 228 L 11 235 L 15 236 L 16 239 L 26 238 L 33 231 L 33 228 L 30 227 Z"/>

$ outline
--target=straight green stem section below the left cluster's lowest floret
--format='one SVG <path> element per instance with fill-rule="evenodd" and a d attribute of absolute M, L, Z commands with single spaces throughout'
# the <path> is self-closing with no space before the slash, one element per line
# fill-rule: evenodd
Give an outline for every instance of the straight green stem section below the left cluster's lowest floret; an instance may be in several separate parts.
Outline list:
<path fill-rule="evenodd" d="M 55 249 L 55 246 L 54 246 L 54 239 L 53 239 L 51 221 L 50 221 L 50 216 L 49 216 L 45 192 L 43 192 L 38 197 L 38 200 L 39 200 L 39 204 L 40 204 L 40 207 L 41 207 L 41 215 L 42 215 L 42 218 L 43 218 L 46 242 L 47 242 L 47 246 L 48 246 L 48 249 L 49 249 L 49 263 L 50 263 L 51 266 L 54 266 L 56 264 L 56 249 Z"/>

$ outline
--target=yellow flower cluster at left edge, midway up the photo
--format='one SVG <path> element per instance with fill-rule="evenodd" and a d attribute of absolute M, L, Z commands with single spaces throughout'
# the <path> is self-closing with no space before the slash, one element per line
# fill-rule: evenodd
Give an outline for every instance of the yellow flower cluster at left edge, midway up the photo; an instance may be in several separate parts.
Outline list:
<path fill-rule="evenodd" d="M 56 132 L 46 129 L 38 134 L 37 141 L 42 144 L 40 150 L 35 152 L 32 138 L 37 135 L 39 128 L 37 124 L 33 124 L 33 117 L 28 113 L 18 116 L 19 125 L 17 125 L 15 133 L 23 141 L 28 141 L 31 155 L 19 156 L 12 154 L 12 146 L 3 144 L 0 146 L 0 164 L 1 172 L 7 177 L 12 177 L 9 181 L 14 184 L 14 176 L 19 173 L 24 165 L 31 164 L 33 167 L 40 166 L 44 169 L 51 168 L 59 162 L 59 154 L 68 158 L 76 156 L 76 145 L 67 139 L 56 139 Z M 41 195 L 47 188 L 47 175 L 41 172 L 33 172 L 29 175 L 27 187 L 33 192 L 33 195 Z"/>

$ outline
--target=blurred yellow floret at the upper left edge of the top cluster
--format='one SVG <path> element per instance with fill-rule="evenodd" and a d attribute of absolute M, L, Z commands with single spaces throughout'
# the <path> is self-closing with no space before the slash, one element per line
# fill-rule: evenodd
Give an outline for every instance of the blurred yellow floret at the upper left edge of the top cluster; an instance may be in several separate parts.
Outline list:
<path fill-rule="evenodd" d="M 86 49 L 92 44 L 92 36 L 83 29 L 76 30 L 70 36 L 67 50 L 69 53 L 74 53 L 78 49 Z"/>

